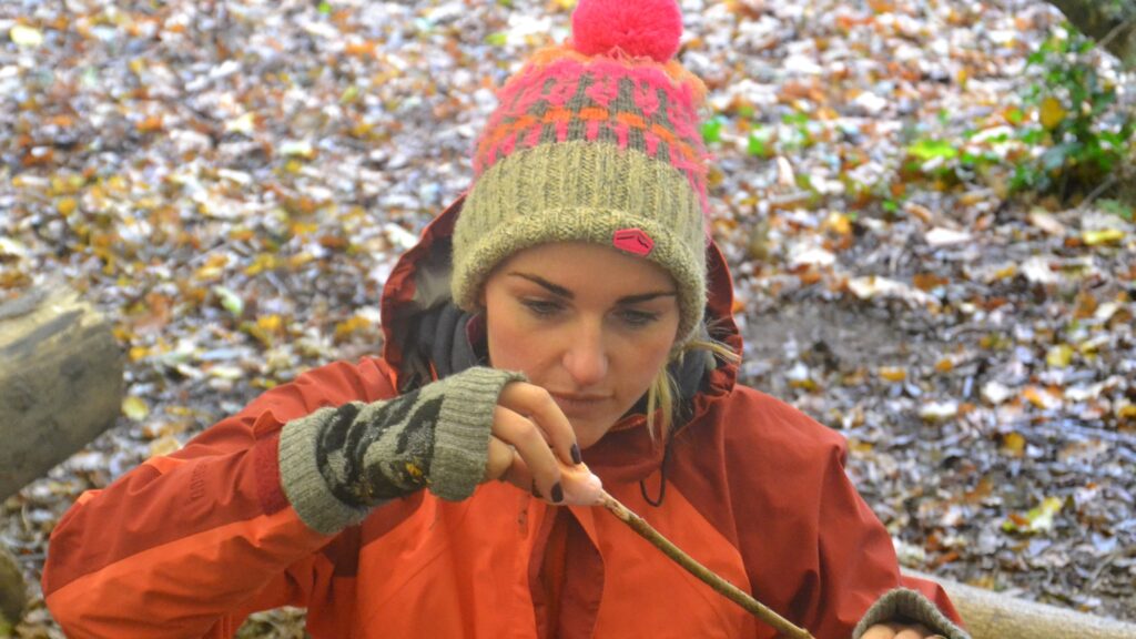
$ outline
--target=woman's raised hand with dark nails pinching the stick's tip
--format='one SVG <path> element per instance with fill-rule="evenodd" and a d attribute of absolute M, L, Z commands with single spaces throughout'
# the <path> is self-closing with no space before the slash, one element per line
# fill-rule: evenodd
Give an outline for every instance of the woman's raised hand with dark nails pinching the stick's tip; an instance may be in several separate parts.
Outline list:
<path fill-rule="evenodd" d="M 580 462 L 576 432 L 543 388 L 504 387 L 493 412 L 485 481 L 501 480 L 553 504 L 595 504 L 600 479 Z"/>

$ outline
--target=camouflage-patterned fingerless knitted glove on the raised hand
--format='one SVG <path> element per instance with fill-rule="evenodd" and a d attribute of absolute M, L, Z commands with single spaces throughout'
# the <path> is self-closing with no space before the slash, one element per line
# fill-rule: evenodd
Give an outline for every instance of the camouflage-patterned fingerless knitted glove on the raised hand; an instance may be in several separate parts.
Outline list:
<path fill-rule="evenodd" d="M 293 420 L 279 440 L 284 493 L 324 534 L 421 488 L 465 499 L 485 475 L 498 397 L 524 379 L 474 367 L 390 400 L 352 401 Z"/>

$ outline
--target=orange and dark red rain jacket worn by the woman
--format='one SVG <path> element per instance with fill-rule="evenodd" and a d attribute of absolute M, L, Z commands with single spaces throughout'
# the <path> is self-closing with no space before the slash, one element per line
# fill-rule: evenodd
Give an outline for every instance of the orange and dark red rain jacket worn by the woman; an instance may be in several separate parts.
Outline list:
<path fill-rule="evenodd" d="M 416 267 L 448 250 L 460 201 L 424 232 L 383 299 L 384 357 L 335 363 L 273 389 L 183 449 L 89 491 L 56 528 L 43 590 L 69 637 L 232 637 L 252 612 L 306 606 L 316 638 L 771 638 L 601 508 L 554 507 L 491 482 L 460 503 L 420 491 L 324 537 L 299 520 L 277 465 L 284 423 L 391 398 Z M 708 312 L 741 338 L 732 284 L 708 247 Z M 840 434 L 709 374 L 666 460 L 629 416 L 585 460 L 616 498 L 716 573 L 807 626 L 850 637 L 900 576 L 891 539 L 844 473 Z"/>

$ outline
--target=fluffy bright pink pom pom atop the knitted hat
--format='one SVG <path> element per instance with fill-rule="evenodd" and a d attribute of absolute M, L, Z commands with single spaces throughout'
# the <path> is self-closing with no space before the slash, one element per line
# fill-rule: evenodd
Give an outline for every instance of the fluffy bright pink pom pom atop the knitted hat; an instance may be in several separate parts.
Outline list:
<path fill-rule="evenodd" d="M 571 15 L 573 48 L 585 56 L 613 49 L 666 63 L 678 52 L 683 14 L 676 0 L 580 0 Z"/>

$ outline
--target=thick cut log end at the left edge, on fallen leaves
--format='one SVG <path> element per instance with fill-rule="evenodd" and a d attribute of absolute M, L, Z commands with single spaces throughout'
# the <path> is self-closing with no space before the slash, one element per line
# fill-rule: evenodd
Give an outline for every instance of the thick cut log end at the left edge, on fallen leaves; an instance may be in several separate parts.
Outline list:
<path fill-rule="evenodd" d="M 0 305 L 0 499 L 115 423 L 123 360 L 110 324 L 62 284 Z"/>

